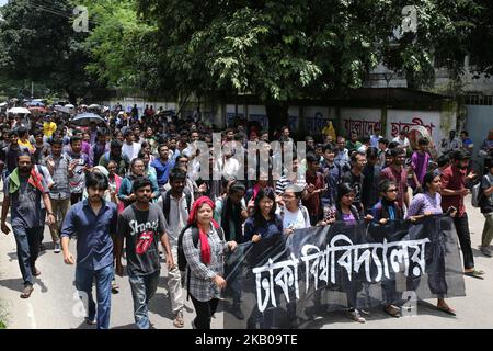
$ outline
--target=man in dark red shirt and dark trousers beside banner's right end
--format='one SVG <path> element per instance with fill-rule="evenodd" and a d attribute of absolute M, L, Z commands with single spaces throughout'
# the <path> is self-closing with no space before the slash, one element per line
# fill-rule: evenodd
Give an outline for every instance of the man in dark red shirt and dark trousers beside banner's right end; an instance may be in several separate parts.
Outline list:
<path fill-rule="evenodd" d="M 463 197 L 470 191 L 466 188 L 466 182 L 473 180 L 477 176 L 474 172 L 467 174 L 470 156 L 463 150 L 455 150 L 452 156 L 452 165 L 448 166 L 442 173 L 442 208 L 444 212 L 449 207 L 457 208 L 454 217 L 457 236 L 459 237 L 460 249 L 462 250 L 462 259 L 465 274 L 478 279 L 483 279 L 484 272 L 474 269 L 474 256 L 471 248 L 471 235 L 469 233 L 468 214 L 463 204 Z"/>

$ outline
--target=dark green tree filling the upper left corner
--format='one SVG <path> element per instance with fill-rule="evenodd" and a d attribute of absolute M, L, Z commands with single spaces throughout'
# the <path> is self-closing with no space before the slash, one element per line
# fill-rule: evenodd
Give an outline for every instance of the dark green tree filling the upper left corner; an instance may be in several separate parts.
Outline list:
<path fill-rule="evenodd" d="M 91 88 L 81 45 L 85 35 L 73 31 L 68 0 L 9 1 L 0 12 L 0 69 L 5 78 L 45 84 L 71 101 Z"/>

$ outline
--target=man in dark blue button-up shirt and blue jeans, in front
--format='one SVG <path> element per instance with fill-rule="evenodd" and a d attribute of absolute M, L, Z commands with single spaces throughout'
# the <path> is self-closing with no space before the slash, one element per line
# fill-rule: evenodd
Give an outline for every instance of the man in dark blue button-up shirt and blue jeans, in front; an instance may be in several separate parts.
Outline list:
<path fill-rule="evenodd" d="M 110 327 L 111 296 L 113 280 L 113 240 L 116 233 L 116 205 L 103 200 L 108 188 L 107 178 L 99 172 L 85 177 L 88 199 L 74 204 L 65 218 L 61 228 L 61 249 L 66 264 L 76 260 L 69 251 L 69 242 L 77 236 L 76 287 L 89 302 L 89 325 L 98 324 L 98 329 Z M 92 298 L 92 283 L 95 281 L 96 305 Z"/>

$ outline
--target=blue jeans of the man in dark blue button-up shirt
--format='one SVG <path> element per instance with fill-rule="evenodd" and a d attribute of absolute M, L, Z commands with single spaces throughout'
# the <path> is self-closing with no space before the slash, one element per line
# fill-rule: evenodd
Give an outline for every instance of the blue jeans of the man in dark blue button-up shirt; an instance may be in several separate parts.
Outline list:
<path fill-rule="evenodd" d="M 98 298 L 98 329 L 108 329 L 112 304 L 113 264 L 108 264 L 96 271 L 80 267 L 76 268 L 76 287 L 79 292 L 87 294 L 89 320 L 94 320 L 96 316 L 96 307 L 92 298 L 92 282 L 94 278 Z"/>

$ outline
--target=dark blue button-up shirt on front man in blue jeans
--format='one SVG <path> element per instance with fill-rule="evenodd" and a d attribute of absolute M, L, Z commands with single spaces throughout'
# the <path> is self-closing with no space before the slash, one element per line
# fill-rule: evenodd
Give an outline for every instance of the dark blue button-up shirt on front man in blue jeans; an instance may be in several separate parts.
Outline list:
<path fill-rule="evenodd" d="M 60 237 L 77 235 L 78 267 L 96 271 L 113 263 L 111 234 L 116 234 L 116 205 L 112 202 L 104 202 L 98 216 L 88 200 L 70 207 Z"/>

